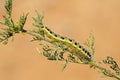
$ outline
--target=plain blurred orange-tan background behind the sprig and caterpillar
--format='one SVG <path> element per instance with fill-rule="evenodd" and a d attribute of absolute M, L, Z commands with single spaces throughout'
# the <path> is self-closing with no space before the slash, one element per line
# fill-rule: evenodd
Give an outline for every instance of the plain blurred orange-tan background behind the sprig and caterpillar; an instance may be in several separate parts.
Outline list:
<path fill-rule="evenodd" d="M 5 15 L 0 0 L 0 19 Z M 83 43 L 91 31 L 95 35 L 95 55 L 100 61 L 114 57 L 120 64 L 120 0 L 13 0 L 14 21 L 29 12 L 26 29 L 32 29 L 35 10 L 44 12 L 44 23 L 54 32 Z M 3 26 L 0 25 L 0 28 Z M 39 54 L 31 36 L 18 34 L 14 41 L 0 45 L 0 80 L 116 80 L 102 78 L 87 65 L 48 61 Z"/>

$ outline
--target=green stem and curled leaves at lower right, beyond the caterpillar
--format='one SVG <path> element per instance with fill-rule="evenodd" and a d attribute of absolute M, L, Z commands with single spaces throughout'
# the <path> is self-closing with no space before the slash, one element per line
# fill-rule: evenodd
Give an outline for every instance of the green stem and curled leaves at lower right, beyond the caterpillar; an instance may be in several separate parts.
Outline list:
<path fill-rule="evenodd" d="M 102 63 L 106 65 L 110 64 L 110 68 L 115 72 L 113 72 L 111 69 L 107 69 L 101 66 Z M 106 77 L 112 77 L 120 80 L 120 68 L 118 67 L 117 62 L 113 60 L 112 57 L 107 56 L 107 58 L 104 59 L 102 63 L 97 63 L 95 61 L 95 62 L 90 62 L 89 64 L 99 69 L 99 72 L 103 73 L 103 75 L 105 75 Z"/>

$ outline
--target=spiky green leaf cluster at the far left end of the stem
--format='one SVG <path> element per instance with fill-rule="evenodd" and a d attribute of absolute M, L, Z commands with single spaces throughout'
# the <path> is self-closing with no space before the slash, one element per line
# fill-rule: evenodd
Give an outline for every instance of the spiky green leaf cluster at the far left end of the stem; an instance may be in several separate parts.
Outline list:
<path fill-rule="evenodd" d="M 7 44 L 8 39 L 16 33 L 26 32 L 23 27 L 28 16 L 28 13 L 23 14 L 15 23 L 12 19 L 12 0 L 5 1 L 5 10 L 6 15 L 3 16 L 4 21 L 0 21 L 0 24 L 7 26 L 6 28 L 1 28 L 2 32 L 0 32 L 0 42 L 3 44 Z"/>

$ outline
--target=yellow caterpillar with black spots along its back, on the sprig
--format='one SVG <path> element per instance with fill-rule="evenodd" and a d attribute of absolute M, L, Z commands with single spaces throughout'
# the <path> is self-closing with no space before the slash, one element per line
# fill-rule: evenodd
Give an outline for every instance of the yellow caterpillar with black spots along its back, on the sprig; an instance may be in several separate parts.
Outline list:
<path fill-rule="evenodd" d="M 81 46 L 79 43 L 74 41 L 73 39 L 60 36 L 60 35 L 54 33 L 53 31 L 51 31 L 48 27 L 43 26 L 43 25 L 40 26 L 40 30 L 43 31 L 44 34 L 47 37 L 49 37 L 50 39 L 57 41 L 57 42 L 61 42 L 65 45 L 67 45 L 68 48 L 70 47 L 69 51 L 71 53 L 76 53 L 75 55 L 79 56 L 80 59 L 82 58 L 87 61 L 92 60 L 92 53 L 90 51 L 88 51 L 87 49 L 85 49 L 83 46 Z M 82 61 L 82 59 L 81 59 L 81 61 Z"/>

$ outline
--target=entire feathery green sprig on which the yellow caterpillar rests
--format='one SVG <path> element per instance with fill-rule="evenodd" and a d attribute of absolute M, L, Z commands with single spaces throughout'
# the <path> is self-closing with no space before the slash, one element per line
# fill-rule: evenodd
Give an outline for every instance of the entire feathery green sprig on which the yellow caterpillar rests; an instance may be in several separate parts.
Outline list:
<path fill-rule="evenodd" d="M 89 65 L 91 68 L 94 68 L 95 70 L 96 69 L 99 70 L 100 73 L 102 73 L 107 77 L 112 77 L 120 80 L 120 67 L 112 57 L 108 56 L 101 63 L 97 62 L 93 57 L 91 61 L 87 61 L 87 64 L 85 64 L 81 62 L 80 60 L 81 58 L 79 58 L 81 55 L 79 53 L 70 52 L 69 46 L 60 42 L 51 41 L 51 39 L 47 37 L 43 31 L 40 30 L 40 27 L 44 26 L 43 14 L 40 15 L 37 12 L 37 17 L 33 17 L 34 20 L 33 25 L 35 26 L 35 29 L 25 30 L 24 24 L 26 23 L 28 13 L 23 14 L 22 16 L 20 16 L 17 22 L 14 22 L 11 17 L 12 0 L 6 0 L 5 10 L 6 10 L 6 15 L 3 16 L 4 21 L 3 22 L 0 21 L 0 24 L 5 25 L 7 27 L 1 28 L 0 43 L 7 44 L 8 39 L 14 36 L 16 33 L 21 33 L 21 32 L 26 33 L 33 37 L 31 41 L 39 41 L 40 43 L 42 43 L 42 41 L 45 41 L 46 43 L 42 44 L 43 45 L 42 55 L 47 57 L 48 60 L 63 61 L 64 62 L 63 70 L 67 67 L 68 63 L 84 64 L 84 65 Z M 95 42 L 94 35 L 93 33 L 90 33 L 89 38 L 86 40 L 84 44 L 91 49 L 92 53 L 95 52 L 94 42 Z M 108 65 L 110 69 L 105 68 L 103 64 Z"/>

